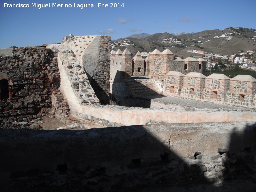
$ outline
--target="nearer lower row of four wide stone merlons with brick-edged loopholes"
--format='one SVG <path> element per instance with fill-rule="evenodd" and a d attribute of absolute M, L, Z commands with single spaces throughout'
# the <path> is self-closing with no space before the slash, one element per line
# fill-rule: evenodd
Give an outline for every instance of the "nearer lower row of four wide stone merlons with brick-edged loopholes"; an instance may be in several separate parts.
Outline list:
<path fill-rule="evenodd" d="M 183 85 L 180 83 L 183 79 Z M 182 86 L 181 86 L 182 85 Z M 164 94 L 180 95 L 193 99 L 212 100 L 255 107 L 256 79 L 238 75 L 232 79 L 224 74 L 208 77 L 201 73 L 169 72 L 164 80 Z"/>

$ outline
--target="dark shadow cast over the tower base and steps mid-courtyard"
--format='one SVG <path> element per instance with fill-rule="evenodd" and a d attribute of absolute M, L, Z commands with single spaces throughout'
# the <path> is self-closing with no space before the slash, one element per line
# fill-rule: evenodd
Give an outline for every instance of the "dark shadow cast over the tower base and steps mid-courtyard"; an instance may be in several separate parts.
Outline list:
<path fill-rule="evenodd" d="M 117 105 L 150 108 L 150 97 L 164 97 L 136 79 L 149 80 L 144 76 L 130 77 L 126 72 L 117 70 L 112 86 L 112 94 L 115 97 Z"/>

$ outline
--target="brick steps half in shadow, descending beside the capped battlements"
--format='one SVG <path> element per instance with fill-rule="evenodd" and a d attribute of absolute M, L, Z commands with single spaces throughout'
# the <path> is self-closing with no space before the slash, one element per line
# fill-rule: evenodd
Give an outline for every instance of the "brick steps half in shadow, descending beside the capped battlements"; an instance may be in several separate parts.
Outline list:
<path fill-rule="evenodd" d="M 142 95 L 162 95 L 156 84 L 150 79 L 131 79 L 126 85 L 133 97 Z"/>

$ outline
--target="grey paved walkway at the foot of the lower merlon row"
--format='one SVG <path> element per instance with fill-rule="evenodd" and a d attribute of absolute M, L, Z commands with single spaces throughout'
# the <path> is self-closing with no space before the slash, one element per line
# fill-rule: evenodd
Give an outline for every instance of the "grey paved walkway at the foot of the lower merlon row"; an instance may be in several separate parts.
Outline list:
<path fill-rule="evenodd" d="M 165 104 L 174 104 L 174 105 L 179 105 L 183 107 L 189 107 L 189 108 L 208 108 L 208 109 L 227 109 L 227 110 L 253 110 L 256 111 L 255 108 L 248 108 L 248 107 L 243 107 L 243 106 L 234 106 L 226 103 L 217 103 L 217 102 L 212 102 L 208 100 L 193 100 L 193 99 L 188 99 L 188 98 L 178 98 L 178 97 L 166 97 L 166 96 L 140 96 L 140 98 L 151 100 L 151 101 L 156 101 L 156 102 L 161 102 Z"/>

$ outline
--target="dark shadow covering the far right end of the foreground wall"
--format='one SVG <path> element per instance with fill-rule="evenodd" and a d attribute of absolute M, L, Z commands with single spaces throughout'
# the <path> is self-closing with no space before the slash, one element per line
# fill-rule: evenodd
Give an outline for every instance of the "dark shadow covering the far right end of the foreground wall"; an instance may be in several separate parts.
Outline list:
<path fill-rule="evenodd" d="M 243 129 L 235 127 L 230 135 L 229 147 L 219 148 L 224 165 L 222 187 L 230 180 L 239 180 L 244 186 L 240 191 L 255 191 L 256 188 L 256 124 L 247 124 Z M 251 181 L 247 184 L 245 181 Z M 239 185 L 237 185 L 239 186 Z"/>

